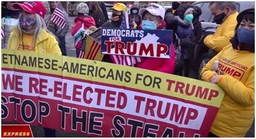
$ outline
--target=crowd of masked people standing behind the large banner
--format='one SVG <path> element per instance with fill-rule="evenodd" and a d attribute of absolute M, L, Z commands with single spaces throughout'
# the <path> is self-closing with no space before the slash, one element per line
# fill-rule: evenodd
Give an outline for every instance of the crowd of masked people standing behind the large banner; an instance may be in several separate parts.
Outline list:
<path fill-rule="evenodd" d="M 117 2 L 111 7 L 112 17 L 108 19 L 103 2 L 80 2 L 76 7 L 78 16 L 75 24 L 70 24 L 68 14 L 63 10 L 65 25 L 60 27 L 50 20 L 57 6 L 57 1 L 7 2 L 6 15 L 2 17 L 2 48 L 66 56 L 65 36 L 71 29 L 78 57 L 83 43 L 81 38 L 85 37 L 86 30 L 121 28 L 127 11 L 125 4 Z M 203 40 L 213 50 L 213 58 L 204 66 L 201 78 L 217 84 L 226 93 L 209 137 L 244 137 L 254 120 L 255 12 L 254 9 L 247 9 L 239 14 L 232 1 L 210 2 L 209 9 L 214 21 L 221 25 Z M 193 60 L 194 45 L 203 35 L 199 22 L 201 9 L 173 2 L 173 7 L 165 11 L 163 6 L 152 3 L 141 9 L 134 5 L 129 13 L 130 29 L 173 30 L 170 58 L 142 57 L 133 66 L 193 78 L 190 71 L 196 65 Z M 219 68 L 213 71 L 216 60 L 219 61 Z M 104 55 L 103 61 L 112 63 L 109 55 Z M 242 66 L 239 65 L 246 68 L 240 69 Z M 239 69 L 243 74 L 234 76 L 225 67 Z M 54 136 L 55 130 L 45 128 L 45 137 Z"/>

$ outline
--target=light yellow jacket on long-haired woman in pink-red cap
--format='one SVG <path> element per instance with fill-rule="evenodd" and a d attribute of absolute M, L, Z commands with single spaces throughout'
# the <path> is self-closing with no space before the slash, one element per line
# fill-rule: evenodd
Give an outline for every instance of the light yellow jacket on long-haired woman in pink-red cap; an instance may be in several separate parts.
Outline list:
<path fill-rule="evenodd" d="M 23 39 L 25 40 L 26 38 L 23 38 Z M 9 38 L 8 48 L 17 50 L 18 47 L 19 47 L 18 30 L 17 30 L 17 27 L 14 27 L 14 29 L 12 29 L 12 32 Z M 47 33 L 45 29 L 42 29 L 41 32 L 39 32 L 39 35 L 37 36 L 37 41 L 35 44 L 35 52 L 62 55 L 62 52 L 60 51 L 60 47 L 58 47 L 58 42 L 56 38 L 52 34 Z"/>

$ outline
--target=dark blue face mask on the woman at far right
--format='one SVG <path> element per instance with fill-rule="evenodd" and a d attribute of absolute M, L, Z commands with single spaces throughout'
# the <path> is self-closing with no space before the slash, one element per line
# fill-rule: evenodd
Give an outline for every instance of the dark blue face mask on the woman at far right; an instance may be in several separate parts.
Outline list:
<path fill-rule="evenodd" d="M 239 43 L 252 43 L 255 40 L 255 30 L 237 29 L 237 39 Z"/>

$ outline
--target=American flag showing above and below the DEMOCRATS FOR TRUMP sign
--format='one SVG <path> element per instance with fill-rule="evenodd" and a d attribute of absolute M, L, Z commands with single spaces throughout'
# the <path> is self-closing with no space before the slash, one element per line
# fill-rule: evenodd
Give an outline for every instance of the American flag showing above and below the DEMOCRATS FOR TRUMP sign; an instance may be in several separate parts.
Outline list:
<path fill-rule="evenodd" d="M 122 19 L 121 29 L 129 29 L 129 21 L 128 21 L 128 13 L 127 11 L 124 14 L 124 19 Z M 126 56 L 126 55 L 110 55 L 111 60 L 113 63 L 118 65 L 125 65 L 125 66 L 134 66 L 136 63 L 139 63 L 140 57 L 139 56 Z"/>

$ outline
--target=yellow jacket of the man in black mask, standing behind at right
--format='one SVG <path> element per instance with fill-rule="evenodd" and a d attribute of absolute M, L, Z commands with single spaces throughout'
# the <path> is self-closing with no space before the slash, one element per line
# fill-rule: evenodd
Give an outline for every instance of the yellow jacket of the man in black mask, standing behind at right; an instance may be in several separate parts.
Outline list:
<path fill-rule="evenodd" d="M 229 15 L 227 19 L 217 27 L 213 35 L 208 35 L 204 38 L 204 44 L 216 52 L 221 52 L 222 48 L 228 45 L 230 43 L 229 40 L 234 37 L 238 14 L 238 12 L 234 12 Z"/>

